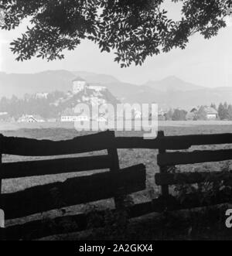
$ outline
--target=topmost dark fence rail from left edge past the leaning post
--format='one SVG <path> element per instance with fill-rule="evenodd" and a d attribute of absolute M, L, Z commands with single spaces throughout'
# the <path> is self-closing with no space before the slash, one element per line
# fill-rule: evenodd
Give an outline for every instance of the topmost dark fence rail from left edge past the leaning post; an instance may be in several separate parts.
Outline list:
<path fill-rule="evenodd" d="M 112 145 L 111 132 L 104 131 L 94 135 L 80 136 L 66 141 L 37 140 L 32 138 L 14 138 L 2 136 L 2 153 L 9 155 L 48 156 L 70 155 L 82 152 L 94 152 L 110 148 Z M 173 143 L 168 139 L 143 139 L 142 137 L 113 138 L 116 148 L 189 148 L 189 143 L 184 141 Z"/>

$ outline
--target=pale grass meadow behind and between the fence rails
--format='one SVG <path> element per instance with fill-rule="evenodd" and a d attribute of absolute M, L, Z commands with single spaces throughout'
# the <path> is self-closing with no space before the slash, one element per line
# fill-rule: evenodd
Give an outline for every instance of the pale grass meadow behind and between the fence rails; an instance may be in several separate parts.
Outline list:
<path fill-rule="evenodd" d="M 46 138 L 51 140 L 66 140 L 74 138 L 78 135 L 84 135 L 84 132 L 77 132 L 72 124 L 59 125 L 57 123 L 51 124 L 24 124 L 20 127 L 17 125 L 2 124 L 0 125 L 0 132 L 5 136 L 18 136 L 26 138 Z M 232 132 L 232 122 L 162 122 L 159 124 L 159 130 L 165 131 L 165 135 L 199 135 L 199 134 L 214 134 L 214 133 L 230 133 Z M 142 136 L 142 132 L 116 132 L 117 136 Z M 204 145 L 200 147 L 194 147 L 192 149 L 217 149 L 217 148 L 232 148 L 231 145 Z M 104 153 L 104 152 L 101 152 Z M 140 193 L 135 193 L 132 197 L 135 203 L 144 202 L 159 195 L 159 187 L 155 186 L 154 176 L 155 172 L 159 171 L 156 165 L 156 150 L 148 149 L 121 149 L 118 150 L 121 168 L 127 166 L 133 166 L 138 163 L 144 163 L 147 169 L 147 189 Z M 82 154 L 82 155 L 94 155 L 94 153 Z M 67 155 L 67 157 L 70 155 Z M 72 155 L 74 156 L 74 155 Z M 32 158 L 32 157 L 19 157 L 12 155 L 3 155 L 3 162 L 15 162 L 32 159 L 46 159 L 46 158 Z M 205 163 L 200 165 L 189 165 L 181 167 L 185 171 L 203 170 L 204 168 L 212 170 L 220 170 L 225 162 L 218 163 Z M 232 167 L 232 162 L 227 162 Z M 57 176 L 44 176 L 32 177 L 26 179 L 8 179 L 2 183 L 2 192 L 10 193 L 21 189 L 25 189 L 30 186 L 42 185 L 45 183 L 51 183 L 57 180 L 65 180 L 68 177 L 80 176 L 91 174 L 92 172 L 78 173 L 78 174 L 63 174 Z M 91 204 L 87 204 L 79 207 L 70 207 L 68 213 L 77 213 L 77 211 L 87 210 Z M 112 200 L 104 200 L 97 202 L 98 207 L 113 207 Z M 60 215 L 59 211 L 52 211 L 45 213 L 44 217 Z M 41 215 L 39 214 L 39 217 Z M 33 217 L 34 218 L 34 217 Z M 37 218 L 35 216 L 35 218 Z M 18 220 L 16 220 L 18 221 Z"/>

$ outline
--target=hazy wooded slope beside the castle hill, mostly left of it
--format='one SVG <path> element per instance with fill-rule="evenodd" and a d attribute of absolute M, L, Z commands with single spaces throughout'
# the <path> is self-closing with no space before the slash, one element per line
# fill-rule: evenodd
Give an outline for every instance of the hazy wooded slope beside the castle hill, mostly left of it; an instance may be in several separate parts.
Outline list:
<path fill-rule="evenodd" d="M 37 94 L 25 94 L 24 97 L 18 98 L 13 95 L 11 98 L 2 97 L 0 100 L 0 112 L 7 112 L 10 118 L 18 120 L 23 114 L 36 114 L 41 118 L 60 118 L 60 114 L 67 108 L 75 108 L 83 97 L 87 97 L 90 104 L 90 97 L 94 95 L 93 90 L 81 91 L 79 94 L 72 92 L 53 91 L 46 97 Z M 108 91 L 101 92 L 101 96 L 97 96 L 99 100 L 104 99 L 111 104 L 117 104 L 119 101 Z"/>

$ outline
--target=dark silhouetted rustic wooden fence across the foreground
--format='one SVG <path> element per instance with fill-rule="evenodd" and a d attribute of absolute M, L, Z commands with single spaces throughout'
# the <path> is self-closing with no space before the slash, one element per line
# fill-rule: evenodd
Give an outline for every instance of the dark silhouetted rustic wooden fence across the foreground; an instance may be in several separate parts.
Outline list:
<path fill-rule="evenodd" d="M 30 176 L 45 176 L 67 172 L 87 172 L 90 170 L 109 169 L 90 176 L 67 179 L 64 182 L 34 186 L 16 193 L 2 193 L 0 208 L 5 210 L 5 219 L 26 217 L 34 213 L 61 209 L 80 203 L 88 203 L 107 198 L 114 198 L 115 210 L 124 208 L 125 195 L 145 189 L 145 166 L 143 164 L 120 169 L 118 148 L 158 149 L 157 163 L 160 172 L 155 174 L 155 183 L 162 188 L 162 194 L 148 203 L 128 207 L 128 217 L 139 217 L 146 213 L 163 210 L 180 210 L 190 207 L 203 207 L 209 204 L 226 203 L 230 195 L 223 191 L 210 199 L 210 202 L 194 200 L 193 195 L 179 202 L 169 194 L 169 186 L 179 183 L 202 183 L 206 180 L 231 179 L 230 172 L 181 172 L 170 173 L 170 166 L 186 165 L 198 162 L 217 162 L 232 159 L 232 149 L 217 151 L 173 152 L 189 149 L 193 145 L 231 144 L 232 134 L 222 135 L 184 135 L 165 136 L 159 131 L 157 138 L 114 137 L 114 131 L 105 131 L 97 135 L 86 135 L 72 140 L 53 142 L 30 138 L 0 137 L 2 154 L 25 156 L 71 155 L 83 152 L 107 150 L 107 155 L 79 158 L 60 158 L 27 162 L 0 162 L 0 188 L 2 179 L 15 179 Z M 172 152 L 169 152 L 169 151 Z M 114 210 L 112 210 L 114 211 Z M 104 211 L 98 216 L 104 218 Z M 3 239 L 35 239 L 53 234 L 66 234 L 87 228 L 89 214 L 56 217 L 53 220 L 32 220 L 3 229 Z M 63 224 L 68 223 L 69 225 Z M 68 227 L 67 227 L 68 226 Z"/>

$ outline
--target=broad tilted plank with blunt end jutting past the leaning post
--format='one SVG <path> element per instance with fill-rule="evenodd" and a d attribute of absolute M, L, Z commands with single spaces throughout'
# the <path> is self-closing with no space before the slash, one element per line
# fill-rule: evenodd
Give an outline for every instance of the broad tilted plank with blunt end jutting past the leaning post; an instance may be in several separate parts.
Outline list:
<path fill-rule="evenodd" d="M 145 189 L 145 166 L 131 166 L 117 174 L 97 173 L 67 179 L 43 186 L 35 186 L 16 193 L 2 194 L 5 218 L 13 219 L 33 213 L 69 207 L 80 203 L 104 200 L 114 196 L 114 184 L 123 186 L 125 193 Z"/>

